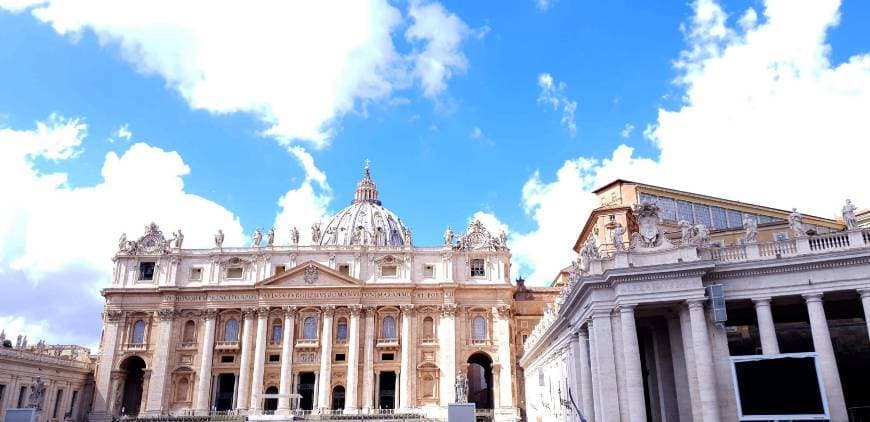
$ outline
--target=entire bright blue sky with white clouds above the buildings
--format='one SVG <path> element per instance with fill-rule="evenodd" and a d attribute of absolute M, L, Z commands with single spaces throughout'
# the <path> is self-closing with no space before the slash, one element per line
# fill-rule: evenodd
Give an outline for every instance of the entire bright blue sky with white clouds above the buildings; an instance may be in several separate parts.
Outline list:
<path fill-rule="evenodd" d="M 568 265 L 617 178 L 870 207 L 859 0 L 0 0 L 0 328 L 94 346 L 120 234 L 188 247 L 347 206 Z"/>

